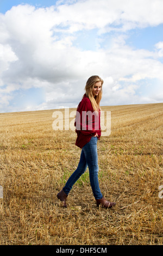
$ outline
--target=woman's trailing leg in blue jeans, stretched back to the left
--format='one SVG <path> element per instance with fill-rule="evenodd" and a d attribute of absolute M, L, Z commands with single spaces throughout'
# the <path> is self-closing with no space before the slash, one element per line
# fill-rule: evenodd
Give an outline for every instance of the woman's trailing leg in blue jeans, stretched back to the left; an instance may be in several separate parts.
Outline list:
<path fill-rule="evenodd" d="M 76 183 L 76 181 L 80 178 L 80 176 L 82 174 L 85 173 L 87 168 L 87 163 L 85 160 L 85 154 L 83 152 L 81 152 L 80 155 L 80 161 L 78 164 L 77 169 L 73 172 L 73 174 L 70 176 L 70 178 L 67 180 L 65 187 L 63 188 L 63 191 L 68 195 L 68 193 L 70 192 L 70 190 L 72 189 L 72 186 Z"/>

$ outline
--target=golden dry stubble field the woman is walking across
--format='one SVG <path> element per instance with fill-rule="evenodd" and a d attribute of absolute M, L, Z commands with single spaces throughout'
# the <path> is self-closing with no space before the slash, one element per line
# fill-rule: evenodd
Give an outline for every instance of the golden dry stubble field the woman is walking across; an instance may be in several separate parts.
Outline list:
<path fill-rule="evenodd" d="M 96 208 L 88 170 L 60 207 L 56 194 L 80 149 L 75 132 L 52 129 L 53 110 L 0 114 L 0 244 L 162 245 L 162 109 L 103 107 L 111 135 L 98 142 L 99 184 L 117 203 L 110 210 Z"/>

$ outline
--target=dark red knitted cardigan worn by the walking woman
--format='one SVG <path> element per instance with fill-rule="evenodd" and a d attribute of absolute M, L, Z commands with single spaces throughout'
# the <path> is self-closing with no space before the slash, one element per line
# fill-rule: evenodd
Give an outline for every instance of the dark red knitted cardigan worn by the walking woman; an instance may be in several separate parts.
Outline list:
<path fill-rule="evenodd" d="M 93 112 L 91 101 L 85 94 L 77 107 L 74 123 L 77 133 L 76 145 L 79 148 L 83 148 L 90 141 L 91 137 L 96 135 L 96 132 L 98 139 L 101 137 L 100 111 L 98 115 L 95 115 L 95 112 Z"/>

